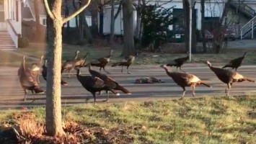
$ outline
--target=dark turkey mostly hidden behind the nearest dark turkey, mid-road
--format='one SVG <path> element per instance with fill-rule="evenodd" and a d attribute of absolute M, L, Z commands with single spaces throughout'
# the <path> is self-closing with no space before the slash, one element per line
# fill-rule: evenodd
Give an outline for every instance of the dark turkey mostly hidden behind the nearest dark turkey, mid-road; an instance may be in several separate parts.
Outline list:
<path fill-rule="evenodd" d="M 114 81 L 112 78 L 110 78 L 109 76 L 103 74 L 103 73 L 99 73 L 97 71 L 93 71 L 91 69 L 91 65 L 88 65 L 89 67 L 89 73 L 91 73 L 91 75 L 93 77 L 98 77 L 100 79 L 102 79 L 102 81 L 105 82 L 106 85 L 110 86 L 112 89 L 118 90 L 118 91 L 123 91 L 124 94 L 131 94 L 130 91 L 128 91 L 127 89 L 125 89 L 123 86 L 120 86 L 118 84 L 118 82 Z M 100 94 L 100 93 L 99 93 Z"/>

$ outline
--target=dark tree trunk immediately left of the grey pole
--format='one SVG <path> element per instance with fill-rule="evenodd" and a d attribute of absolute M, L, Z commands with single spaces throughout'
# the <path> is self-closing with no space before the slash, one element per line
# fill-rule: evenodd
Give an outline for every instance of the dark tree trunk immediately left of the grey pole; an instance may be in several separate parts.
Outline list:
<path fill-rule="evenodd" d="M 189 50 L 189 26 L 190 26 L 190 7 L 187 0 L 182 0 L 183 4 L 183 20 L 184 20 L 184 38 L 185 38 L 185 49 Z"/>

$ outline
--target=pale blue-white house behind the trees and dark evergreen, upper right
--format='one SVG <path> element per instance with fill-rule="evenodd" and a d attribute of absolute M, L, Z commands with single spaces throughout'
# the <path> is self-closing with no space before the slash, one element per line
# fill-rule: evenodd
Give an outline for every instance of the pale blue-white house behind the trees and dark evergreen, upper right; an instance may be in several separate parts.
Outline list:
<path fill-rule="evenodd" d="M 205 3 L 205 19 L 206 21 L 213 21 L 219 20 L 223 14 L 224 0 L 206 0 Z M 135 1 L 136 3 L 136 1 Z M 183 11 L 182 7 L 182 0 L 148 0 L 146 4 L 156 4 L 158 6 L 162 6 L 166 9 L 173 7 L 172 11 L 173 14 L 177 14 L 178 12 Z M 240 7 L 238 7 L 240 5 Z M 119 4 L 115 4 L 115 12 L 117 12 Z M 250 35 L 250 28 L 252 21 L 255 21 L 256 24 L 256 0 L 240 0 L 240 4 L 238 4 L 238 0 L 232 0 L 229 6 L 229 13 L 227 14 L 226 18 L 224 19 L 225 22 L 229 22 L 234 28 L 234 31 L 237 33 L 237 36 L 240 32 L 244 30 L 242 33 L 242 37 L 246 37 Z M 195 1 L 195 21 L 196 21 L 196 29 L 201 29 L 201 6 L 200 0 Z M 239 13 L 237 13 L 239 12 Z M 180 13 L 182 14 L 182 13 Z M 110 5 L 104 7 L 104 27 L 103 32 L 105 35 L 110 34 L 110 15 L 111 15 L 111 7 Z M 133 10 L 133 24 L 136 24 L 136 10 Z M 239 21 L 239 24 L 237 24 Z M 183 22 L 176 23 L 174 25 L 169 26 L 169 30 L 181 29 Z M 238 31 L 237 27 L 240 27 L 240 32 Z M 248 27 L 244 27 L 248 26 Z M 136 29 L 136 26 L 133 27 Z M 247 29 L 245 29 L 247 28 Z M 248 33 L 249 32 L 249 33 Z M 123 14 L 122 11 L 118 15 L 117 19 L 115 20 L 115 35 L 123 35 Z"/>

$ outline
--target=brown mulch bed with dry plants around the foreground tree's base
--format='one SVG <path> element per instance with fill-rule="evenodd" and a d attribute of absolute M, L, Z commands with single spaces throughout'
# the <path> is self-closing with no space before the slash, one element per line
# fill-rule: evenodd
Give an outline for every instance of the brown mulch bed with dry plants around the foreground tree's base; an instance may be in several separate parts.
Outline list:
<path fill-rule="evenodd" d="M 84 127 L 77 122 L 63 123 L 66 135 L 61 137 L 49 137 L 45 134 L 45 124 L 35 121 L 30 112 L 14 114 L 13 120 L 1 125 L 0 143 L 133 143 L 133 137 L 125 130 L 115 127 L 107 129 L 94 125 Z"/>

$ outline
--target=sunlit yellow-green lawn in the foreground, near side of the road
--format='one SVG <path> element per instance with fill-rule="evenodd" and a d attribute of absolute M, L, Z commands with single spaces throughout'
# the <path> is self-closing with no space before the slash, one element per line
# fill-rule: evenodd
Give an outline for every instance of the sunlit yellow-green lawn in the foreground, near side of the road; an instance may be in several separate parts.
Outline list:
<path fill-rule="evenodd" d="M 87 136 L 83 140 L 87 143 L 100 143 L 104 139 L 109 143 L 252 144 L 256 142 L 256 115 L 250 117 L 247 112 L 255 106 L 256 95 L 252 95 L 84 104 L 64 107 L 62 112 L 68 125 L 77 122 L 84 127 Z M 0 121 L 15 119 L 20 113 L 0 112 Z M 32 109 L 32 115 L 36 122 L 44 122 L 45 109 Z M 24 123 L 29 118 L 18 119 Z"/>

